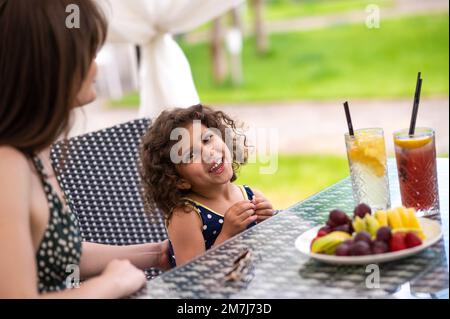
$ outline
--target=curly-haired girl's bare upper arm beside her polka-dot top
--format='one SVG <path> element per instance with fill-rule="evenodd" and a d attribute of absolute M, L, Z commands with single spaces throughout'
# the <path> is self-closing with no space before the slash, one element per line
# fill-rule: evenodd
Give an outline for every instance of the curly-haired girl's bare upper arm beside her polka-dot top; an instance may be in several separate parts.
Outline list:
<path fill-rule="evenodd" d="M 202 222 L 194 212 L 175 209 L 167 229 L 175 253 L 177 266 L 205 252 Z"/>

